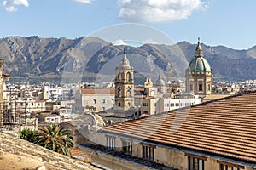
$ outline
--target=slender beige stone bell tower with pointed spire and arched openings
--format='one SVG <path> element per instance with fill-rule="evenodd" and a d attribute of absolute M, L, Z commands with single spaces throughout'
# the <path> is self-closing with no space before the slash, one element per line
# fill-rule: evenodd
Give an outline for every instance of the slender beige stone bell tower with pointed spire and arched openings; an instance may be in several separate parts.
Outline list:
<path fill-rule="evenodd" d="M 126 56 L 124 48 L 123 59 L 115 69 L 115 113 L 117 116 L 130 116 L 134 108 L 133 68 Z"/>

